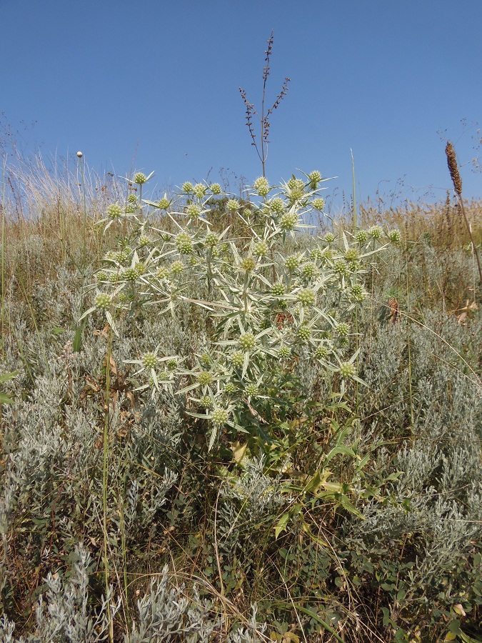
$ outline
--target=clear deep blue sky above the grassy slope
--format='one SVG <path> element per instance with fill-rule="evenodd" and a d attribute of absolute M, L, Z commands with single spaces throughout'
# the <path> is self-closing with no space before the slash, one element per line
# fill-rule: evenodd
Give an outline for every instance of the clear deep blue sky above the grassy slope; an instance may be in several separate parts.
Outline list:
<path fill-rule="evenodd" d="M 444 130 L 465 196 L 482 196 L 481 0 L 0 0 L 0 21 L 3 122 L 27 124 L 46 157 L 80 149 L 124 174 L 135 153 L 158 189 L 220 168 L 253 181 L 238 88 L 260 105 L 273 29 L 268 102 L 291 83 L 271 119 L 270 181 L 319 169 L 338 177 L 327 193 L 340 205 L 353 149 L 357 200 L 378 187 L 443 199 Z"/>

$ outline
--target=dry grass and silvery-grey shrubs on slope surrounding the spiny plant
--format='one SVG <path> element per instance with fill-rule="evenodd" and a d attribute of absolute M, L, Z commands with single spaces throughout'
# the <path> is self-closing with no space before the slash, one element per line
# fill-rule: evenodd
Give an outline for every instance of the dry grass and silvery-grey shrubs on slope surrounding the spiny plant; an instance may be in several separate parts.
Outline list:
<path fill-rule="evenodd" d="M 119 188 L 87 179 L 84 219 L 78 177 L 16 180 L 2 210 L 1 374 L 18 374 L 1 405 L 1 640 L 482 640 L 482 293 L 450 201 L 361 209 L 362 227 L 396 224 L 403 241 L 365 276 L 351 321 L 367 387 L 348 389 L 346 410 L 331 404 L 336 377 L 296 365 L 319 406 L 291 426 L 289 475 L 313 474 L 300 465 L 347 428 L 343 444 L 367 457 L 360 517 L 328 499 L 298 507 L 262 462 L 208 454 L 185 397 L 134 393 L 126 360 L 160 341 L 202 350 L 199 309 L 119 321 L 107 369 L 104 318 L 81 334 L 78 320 L 115 244 L 94 221 Z M 480 210 L 468 204 L 479 244 Z M 351 466 L 333 459 L 333 479 Z"/>

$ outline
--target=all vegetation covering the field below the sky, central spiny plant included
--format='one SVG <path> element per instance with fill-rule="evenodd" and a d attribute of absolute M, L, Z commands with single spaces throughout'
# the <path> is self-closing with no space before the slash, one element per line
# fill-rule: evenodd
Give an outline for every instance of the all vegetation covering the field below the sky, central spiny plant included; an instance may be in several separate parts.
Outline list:
<path fill-rule="evenodd" d="M 482 204 L 331 219 L 260 151 L 5 157 L 2 642 L 482 641 Z"/>

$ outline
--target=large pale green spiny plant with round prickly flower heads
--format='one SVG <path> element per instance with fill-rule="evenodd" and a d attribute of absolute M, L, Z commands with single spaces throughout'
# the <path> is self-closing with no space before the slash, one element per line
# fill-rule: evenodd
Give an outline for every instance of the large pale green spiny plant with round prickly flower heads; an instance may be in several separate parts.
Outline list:
<path fill-rule="evenodd" d="M 210 427 L 209 450 L 226 432 L 233 439 L 245 434 L 258 448 L 273 439 L 281 418 L 293 412 L 293 370 L 300 357 L 338 373 L 341 394 L 348 379 L 363 384 L 356 353 L 347 353 L 353 332 L 343 319 L 366 298 L 363 266 L 380 249 L 382 229 L 355 231 L 350 238 L 314 236 L 311 249 L 286 250 L 310 227 L 304 218 L 323 211 L 325 180 L 313 171 L 270 186 L 261 176 L 247 195 L 249 208 L 219 184 L 184 183 L 171 199 L 134 204 L 129 196 L 126 204 L 134 211 L 114 204 L 102 219 L 106 230 L 119 222 L 131 226 L 117 251 L 106 254 L 94 305 L 84 316 L 101 311 L 116 332 L 116 317 L 140 306 L 156 306 L 174 318 L 181 304 L 204 309 L 213 331 L 202 353 L 194 354 L 193 347 L 191 355 L 166 355 L 160 343 L 131 362 L 135 376 L 144 377 L 140 389 L 179 386 L 178 394 L 189 397 L 189 413 Z M 242 236 L 230 235 L 229 226 L 214 232 L 217 196 L 226 214 L 241 221 Z M 159 227 L 159 220 L 167 225 Z M 200 284 L 207 298 L 199 299 L 192 284 Z M 334 308 L 328 306 L 333 294 Z"/>

